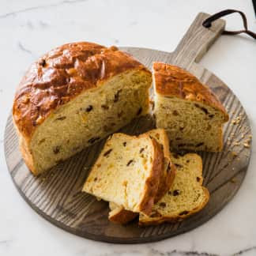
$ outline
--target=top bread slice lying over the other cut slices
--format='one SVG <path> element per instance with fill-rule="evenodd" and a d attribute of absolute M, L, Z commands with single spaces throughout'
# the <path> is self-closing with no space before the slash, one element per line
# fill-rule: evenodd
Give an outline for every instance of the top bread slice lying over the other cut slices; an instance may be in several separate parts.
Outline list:
<path fill-rule="evenodd" d="M 151 213 L 164 169 L 164 153 L 148 134 L 113 134 L 83 191 L 135 213 Z"/>

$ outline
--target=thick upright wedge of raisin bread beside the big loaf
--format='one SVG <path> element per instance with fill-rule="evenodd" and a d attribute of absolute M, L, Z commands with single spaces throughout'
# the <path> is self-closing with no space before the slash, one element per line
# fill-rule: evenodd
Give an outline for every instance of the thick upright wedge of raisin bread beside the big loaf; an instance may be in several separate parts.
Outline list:
<path fill-rule="evenodd" d="M 221 151 L 222 126 L 228 113 L 209 87 L 191 73 L 153 64 L 156 126 L 164 128 L 171 149 Z"/>

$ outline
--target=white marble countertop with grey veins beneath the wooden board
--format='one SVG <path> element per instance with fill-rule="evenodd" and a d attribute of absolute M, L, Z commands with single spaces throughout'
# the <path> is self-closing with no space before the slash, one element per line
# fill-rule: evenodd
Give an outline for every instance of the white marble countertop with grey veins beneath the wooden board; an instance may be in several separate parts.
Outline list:
<path fill-rule="evenodd" d="M 173 51 L 198 12 L 241 9 L 251 30 L 250 0 L 1 0 L 0 2 L 0 255 L 256 255 L 256 152 L 243 186 L 219 214 L 200 228 L 157 243 L 115 245 L 82 239 L 37 215 L 7 171 L 3 133 L 13 93 L 24 70 L 62 43 L 92 41 Z M 241 28 L 237 15 L 228 28 Z M 256 42 L 221 36 L 201 63 L 232 88 L 255 134 Z"/>

